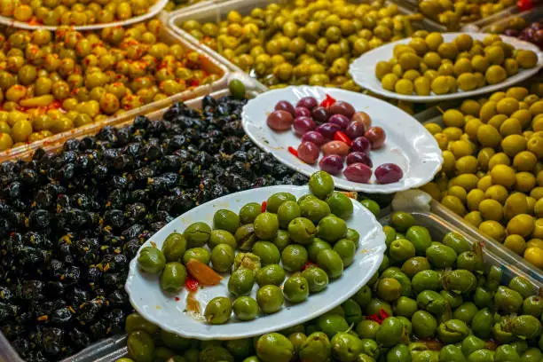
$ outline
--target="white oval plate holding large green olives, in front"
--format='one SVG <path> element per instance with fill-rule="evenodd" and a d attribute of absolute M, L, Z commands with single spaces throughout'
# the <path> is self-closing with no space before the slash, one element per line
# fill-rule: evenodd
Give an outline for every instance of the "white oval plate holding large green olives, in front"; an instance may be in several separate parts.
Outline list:
<path fill-rule="evenodd" d="M 142 248 L 151 245 L 151 240 L 157 248 L 161 248 L 164 239 L 171 232 L 183 232 L 185 228 L 194 222 L 203 221 L 213 224 L 213 215 L 218 209 L 231 209 L 239 212 L 241 207 L 248 202 L 266 201 L 273 193 L 292 193 L 297 198 L 309 193 L 307 186 L 271 186 L 262 187 L 240 193 L 232 193 L 214 201 L 194 208 L 182 216 L 164 226 L 149 240 L 146 240 Z M 156 324 L 162 329 L 187 338 L 201 340 L 221 339 L 232 340 L 265 334 L 279 329 L 292 327 L 306 320 L 314 319 L 319 315 L 330 311 L 335 306 L 343 303 L 354 295 L 360 287 L 374 275 L 381 265 L 385 251 L 385 236 L 382 226 L 374 215 L 358 201 L 352 201 L 354 212 L 347 219 L 347 225 L 360 234 L 360 246 L 355 256 L 355 261 L 343 271 L 340 279 L 330 282 L 328 287 L 320 293 L 310 295 L 308 300 L 299 304 L 285 304 L 283 309 L 270 315 L 259 315 L 248 322 L 237 321 L 233 315 L 230 322 L 224 325 L 209 325 L 191 317 L 185 311 L 187 291 L 181 291 L 178 295 L 166 295 L 161 291 L 159 278 L 138 270 L 136 256 L 130 262 L 130 271 L 126 280 L 125 289 L 130 295 L 130 303 L 145 319 Z M 141 248 L 140 248 L 141 250 Z M 201 311 L 206 304 L 216 296 L 228 296 L 228 274 L 223 274 L 224 279 L 214 287 L 201 288 L 196 292 L 196 298 L 201 304 Z M 258 286 L 255 284 L 251 295 L 256 296 Z M 178 301 L 176 301 L 176 296 Z"/>

